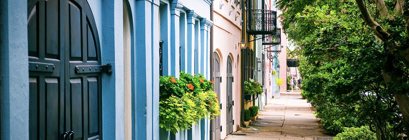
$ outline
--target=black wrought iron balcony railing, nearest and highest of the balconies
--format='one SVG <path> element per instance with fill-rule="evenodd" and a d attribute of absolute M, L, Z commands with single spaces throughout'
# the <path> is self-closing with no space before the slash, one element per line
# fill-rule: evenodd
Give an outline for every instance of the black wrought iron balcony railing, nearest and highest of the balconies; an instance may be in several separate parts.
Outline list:
<path fill-rule="evenodd" d="M 247 33 L 272 35 L 277 32 L 277 12 L 263 9 L 247 10 Z"/>

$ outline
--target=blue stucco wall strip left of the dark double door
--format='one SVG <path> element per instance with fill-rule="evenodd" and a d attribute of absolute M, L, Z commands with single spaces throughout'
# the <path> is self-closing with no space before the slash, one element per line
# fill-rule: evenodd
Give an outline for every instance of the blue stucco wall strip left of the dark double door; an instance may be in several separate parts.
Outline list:
<path fill-rule="evenodd" d="M 27 0 L 0 2 L 1 139 L 29 138 Z"/>

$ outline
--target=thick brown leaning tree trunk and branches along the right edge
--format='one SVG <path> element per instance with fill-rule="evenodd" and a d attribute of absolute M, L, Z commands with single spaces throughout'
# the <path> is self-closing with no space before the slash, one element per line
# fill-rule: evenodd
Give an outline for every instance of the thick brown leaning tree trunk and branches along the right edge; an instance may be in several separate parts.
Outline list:
<path fill-rule="evenodd" d="M 387 26 L 381 26 L 369 13 L 364 0 L 355 0 L 361 11 L 361 17 L 366 24 L 371 27 L 375 36 L 384 42 L 387 49 L 393 57 L 389 57 L 389 61 L 398 59 L 402 61 L 406 67 L 409 67 L 409 9 L 405 7 L 405 0 L 397 0 L 393 11 L 389 11 L 388 5 L 384 0 L 374 0 L 374 4 L 380 13 L 381 22 Z M 406 2 L 407 3 L 407 2 Z M 406 9 L 405 12 L 403 9 Z M 386 63 L 382 68 L 387 86 L 396 89 L 393 93 L 402 115 L 406 121 L 409 121 L 409 88 L 402 86 L 402 83 L 407 83 L 407 77 L 404 76 L 402 69 L 397 68 L 393 63 Z"/>

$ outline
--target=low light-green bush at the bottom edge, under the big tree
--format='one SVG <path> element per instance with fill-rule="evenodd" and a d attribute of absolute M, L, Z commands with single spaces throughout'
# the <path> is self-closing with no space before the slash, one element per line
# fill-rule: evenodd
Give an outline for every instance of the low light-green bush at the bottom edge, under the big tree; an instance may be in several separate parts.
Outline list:
<path fill-rule="evenodd" d="M 369 130 L 369 126 L 361 128 L 344 128 L 344 132 L 338 133 L 333 140 L 377 140 L 375 133 Z"/>

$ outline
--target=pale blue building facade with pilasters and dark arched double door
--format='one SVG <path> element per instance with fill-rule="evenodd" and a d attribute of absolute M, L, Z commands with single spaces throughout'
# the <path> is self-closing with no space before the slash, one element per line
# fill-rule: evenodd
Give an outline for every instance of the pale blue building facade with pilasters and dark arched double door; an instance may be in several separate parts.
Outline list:
<path fill-rule="evenodd" d="M 1 139 L 168 139 L 159 76 L 209 80 L 211 1 L 2 0 Z M 209 120 L 169 139 L 208 140 Z"/>

